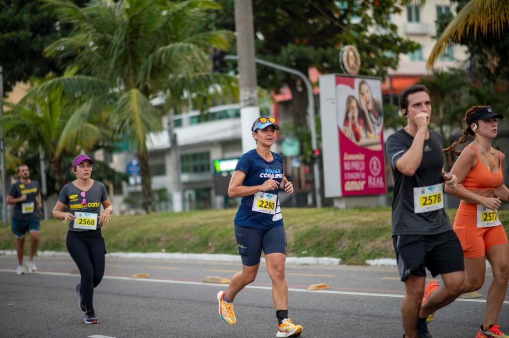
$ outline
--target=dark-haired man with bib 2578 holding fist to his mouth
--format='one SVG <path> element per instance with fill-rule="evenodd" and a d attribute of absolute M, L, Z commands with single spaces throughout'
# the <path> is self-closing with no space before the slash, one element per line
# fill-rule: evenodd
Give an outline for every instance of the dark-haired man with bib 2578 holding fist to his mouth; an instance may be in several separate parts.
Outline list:
<path fill-rule="evenodd" d="M 463 249 L 443 204 L 443 182 L 455 188 L 457 178 L 443 169 L 442 137 L 428 129 L 428 89 L 405 88 L 400 108 L 407 126 L 389 136 L 385 149 L 394 176 L 392 240 L 406 288 L 404 337 L 432 338 L 427 322 L 462 293 L 465 281 Z M 425 287 L 426 268 L 433 276 L 441 274 L 444 285 L 430 282 Z"/>

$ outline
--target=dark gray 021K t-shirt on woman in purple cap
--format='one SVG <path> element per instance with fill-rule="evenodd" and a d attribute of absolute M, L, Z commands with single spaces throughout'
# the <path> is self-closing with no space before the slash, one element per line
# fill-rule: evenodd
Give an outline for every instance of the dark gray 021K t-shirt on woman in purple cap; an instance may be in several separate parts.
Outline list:
<path fill-rule="evenodd" d="M 83 190 L 78 189 L 72 183 L 67 183 L 60 192 L 59 202 L 67 205 L 69 212 L 72 214 L 76 211 L 97 213 L 97 219 L 99 220 L 99 216 L 101 214 L 101 202 L 108 199 L 106 187 L 104 187 L 103 183 L 94 181 L 92 187 L 85 192 L 84 199 L 86 199 L 86 204 L 81 203 L 83 197 L 81 197 L 80 194 L 82 191 Z M 71 231 L 89 231 L 86 229 L 74 229 L 73 224 L 74 221 L 69 223 L 69 230 Z M 99 229 L 100 227 L 101 225 L 98 224 L 97 228 Z"/>

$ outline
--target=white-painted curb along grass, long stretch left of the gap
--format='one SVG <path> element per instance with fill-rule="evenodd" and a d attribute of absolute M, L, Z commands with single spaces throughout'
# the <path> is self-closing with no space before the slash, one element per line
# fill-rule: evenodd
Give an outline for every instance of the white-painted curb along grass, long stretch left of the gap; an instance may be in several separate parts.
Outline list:
<path fill-rule="evenodd" d="M 14 256 L 14 250 L 0 250 L 0 256 Z M 69 253 L 63 251 L 38 251 L 40 257 L 70 257 Z M 106 257 L 115 258 L 139 258 L 139 259 L 168 259 L 168 260 L 190 260 L 190 261 L 214 261 L 214 262 L 241 262 L 239 255 L 225 254 L 183 254 L 183 253 L 141 253 L 141 252 L 112 252 L 106 254 Z M 340 258 L 332 257 L 287 257 L 288 264 L 296 265 L 338 265 L 341 264 Z M 265 263 L 265 258 L 262 258 Z"/>

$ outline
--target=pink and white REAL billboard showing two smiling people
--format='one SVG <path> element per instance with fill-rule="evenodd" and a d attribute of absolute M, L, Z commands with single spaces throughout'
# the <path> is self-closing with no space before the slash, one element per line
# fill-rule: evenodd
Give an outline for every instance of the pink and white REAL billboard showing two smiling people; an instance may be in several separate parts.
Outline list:
<path fill-rule="evenodd" d="M 320 76 L 325 196 L 386 193 L 381 80 Z"/>

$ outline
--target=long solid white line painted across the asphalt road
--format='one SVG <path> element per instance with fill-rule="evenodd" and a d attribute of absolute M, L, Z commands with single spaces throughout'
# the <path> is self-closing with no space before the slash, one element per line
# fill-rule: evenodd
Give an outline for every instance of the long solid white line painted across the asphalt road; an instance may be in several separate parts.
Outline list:
<path fill-rule="evenodd" d="M 0 272 L 9 272 L 14 273 L 16 270 L 11 269 L 0 269 Z M 51 276 L 69 276 L 76 278 L 76 274 L 65 273 L 65 272 L 47 272 L 47 271 L 38 271 L 38 274 L 45 274 Z M 202 282 L 190 282 L 190 281 L 174 281 L 174 280 L 158 280 L 152 278 L 140 278 L 133 279 L 130 277 L 123 276 L 104 276 L 103 279 L 108 280 L 117 280 L 117 281 L 131 281 L 136 283 L 165 283 L 165 284 L 182 284 L 182 285 L 199 285 L 199 286 L 213 286 L 213 287 L 221 287 L 224 288 L 224 284 L 211 284 L 211 283 L 202 283 Z M 258 285 L 248 285 L 245 287 L 246 289 L 258 289 L 258 290 L 272 290 L 270 286 L 258 286 Z M 335 291 L 335 290 L 314 290 L 308 291 L 306 289 L 297 289 L 297 288 L 289 288 L 289 291 L 293 292 L 307 292 L 307 293 L 327 293 L 327 294 L 335 294 L 335 295 L 350 295 L 350 296 L 369 296 L 369 297 L 387 297 L 387 298 L 403 298 L 405 295 L 399 294 L 387 294 L 387 293 L 373 293 L 373 292 L 353 292 L 353 291 Z M 472 303 L 486 303 L 486 299 L 466 299 L 466 298 L 457 298 L 456 301 L 467 301 Z M 505 300 L 504 304 L 509 304 L 509 301 Z"/>

